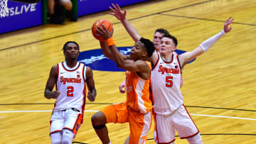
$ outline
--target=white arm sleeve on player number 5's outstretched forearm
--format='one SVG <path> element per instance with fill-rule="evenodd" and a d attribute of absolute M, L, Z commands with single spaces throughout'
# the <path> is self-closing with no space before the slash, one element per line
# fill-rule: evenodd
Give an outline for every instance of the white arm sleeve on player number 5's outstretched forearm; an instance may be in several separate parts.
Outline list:
<path fill-rule="evenodd" d="M 213 35 L 212 37 L 208 38 L 207 40 L 203 41 L 199 46 L 202 48 L 204 52 L 210 49 L 211 46 L 213 46 L 223 35 L 225 34 L 225 31 L 220 31 L 220 33 L 217 33 L 216 35 Z"/>

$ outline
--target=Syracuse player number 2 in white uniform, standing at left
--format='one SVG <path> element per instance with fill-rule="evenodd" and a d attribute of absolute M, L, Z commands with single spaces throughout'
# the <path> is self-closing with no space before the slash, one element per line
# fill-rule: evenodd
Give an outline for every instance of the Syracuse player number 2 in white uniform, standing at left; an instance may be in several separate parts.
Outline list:
<path fill-rule="evenodd" d="M 65 43 L 65 62 L 51 68 L 46 83 L 44 96 L 46 99 L 56 99 L 50 118 L 50 140 L 53 144 L 71 144 L 75 138 L 85 111 L 85 83 L 89 89 L 87 98 L 95 101 L 96 89 L 92 70 L 78 62 L 79 53 L 78 43 Z"/>

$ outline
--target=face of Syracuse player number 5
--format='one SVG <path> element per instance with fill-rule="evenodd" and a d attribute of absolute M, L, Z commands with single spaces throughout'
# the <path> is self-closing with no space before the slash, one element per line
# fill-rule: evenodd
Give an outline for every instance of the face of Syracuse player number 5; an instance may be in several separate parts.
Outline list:
<path fill-rule="evenodd" d="M 174 52 L 174 50 L 176 50 L 176 46 L 174 44 L 174 41 L 171 38 L 162 38 L 160 40 L 160 49 L 159 52 L 161 53 L 161 55 L 168 55 L 168 54 L 172 54 L 172 52 Z"/>

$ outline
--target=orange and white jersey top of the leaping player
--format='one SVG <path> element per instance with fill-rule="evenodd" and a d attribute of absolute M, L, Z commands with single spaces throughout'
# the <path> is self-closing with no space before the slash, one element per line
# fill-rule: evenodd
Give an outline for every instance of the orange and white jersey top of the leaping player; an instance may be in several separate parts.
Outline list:
<path fill-rule="evenodd" d="M 145 61 L 146 62 L 146 61 Z M 151 63 L 146 62 L 150 69 Z M 127 105 L 140 113 L 147 113 L 152 109 L 149 94 L 150 78 L 144 80 L 136 72 L 126 71 Z"/>

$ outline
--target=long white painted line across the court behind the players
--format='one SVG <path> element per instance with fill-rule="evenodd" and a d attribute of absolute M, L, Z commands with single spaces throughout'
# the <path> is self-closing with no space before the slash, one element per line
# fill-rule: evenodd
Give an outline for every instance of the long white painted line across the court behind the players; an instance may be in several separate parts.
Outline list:
<path fill-rule="evenodd" d="M 41 111 L 0 111 L 0 113 L 34 113 L 34 112 L 52 112 L 52 110 L 41 110 Z M 97 110 L 85 110 L 85 112 L 97 112 Z M 207 114 L 193 114 L 190 113 L 191 116 L 208 116 L 208 117 L 216 117 L 216 118 L 234 118 L 234 119 L 244 119 L 250 121 L 256 121 L 256 118 L 241 118 L 241 117 L 233 117 L 233 116 L 215 116 L 215 115 L 207 115 Z"/>

